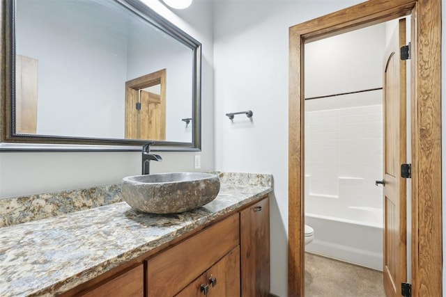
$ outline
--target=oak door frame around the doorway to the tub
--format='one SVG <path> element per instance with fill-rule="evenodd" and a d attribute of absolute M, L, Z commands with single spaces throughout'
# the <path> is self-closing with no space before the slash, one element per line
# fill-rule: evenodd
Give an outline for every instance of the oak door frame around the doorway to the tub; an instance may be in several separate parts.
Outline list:
<path fill-rule="evenodd" d="M 289 29 L 288 294 L 305 294 L 305 42 L 412 15 L 412 294 L 443 294 L 441 195 L 441 3 L 369 0 Z"/>

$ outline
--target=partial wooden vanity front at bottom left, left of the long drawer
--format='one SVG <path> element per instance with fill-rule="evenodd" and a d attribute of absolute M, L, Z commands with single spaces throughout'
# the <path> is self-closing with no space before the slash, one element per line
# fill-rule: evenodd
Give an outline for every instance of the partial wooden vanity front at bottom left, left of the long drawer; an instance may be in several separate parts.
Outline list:
<path fill-rule="evenodd" d="M 82 296 L 144 296 L 144 267 L 139 265 Z"/>

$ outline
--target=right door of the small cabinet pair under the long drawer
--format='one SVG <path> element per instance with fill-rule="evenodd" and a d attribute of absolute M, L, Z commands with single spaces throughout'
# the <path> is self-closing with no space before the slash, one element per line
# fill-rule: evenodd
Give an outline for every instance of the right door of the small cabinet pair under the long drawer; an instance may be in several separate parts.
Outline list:
<path fill-rule="evenodd" d="M 212 266 L 206 277 L 208 297 L 240 296 L 240 247 L 236 246 Z"/>

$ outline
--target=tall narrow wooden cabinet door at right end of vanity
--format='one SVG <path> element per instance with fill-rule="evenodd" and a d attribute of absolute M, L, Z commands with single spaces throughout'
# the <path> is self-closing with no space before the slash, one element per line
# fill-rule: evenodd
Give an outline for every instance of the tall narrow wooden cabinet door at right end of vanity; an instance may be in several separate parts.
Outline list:
<path fill-rule="evenodd" d="M 242 296 L 270 293 L 270 204 L 265 198 L 240 212 Z"/>

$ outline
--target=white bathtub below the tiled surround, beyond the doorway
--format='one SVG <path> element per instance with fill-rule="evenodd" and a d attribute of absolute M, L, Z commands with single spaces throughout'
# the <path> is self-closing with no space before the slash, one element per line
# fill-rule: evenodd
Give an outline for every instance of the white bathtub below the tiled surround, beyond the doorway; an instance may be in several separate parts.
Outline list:
<path fill-rule="evenodd" d="M 383 271 L 383 209 L 324 209 L 342 218 L 321 214 L 321 208 L 319 214 L 306 211 L 305 224 L 313 227 L 314 241 L 305 250 Z"/>

